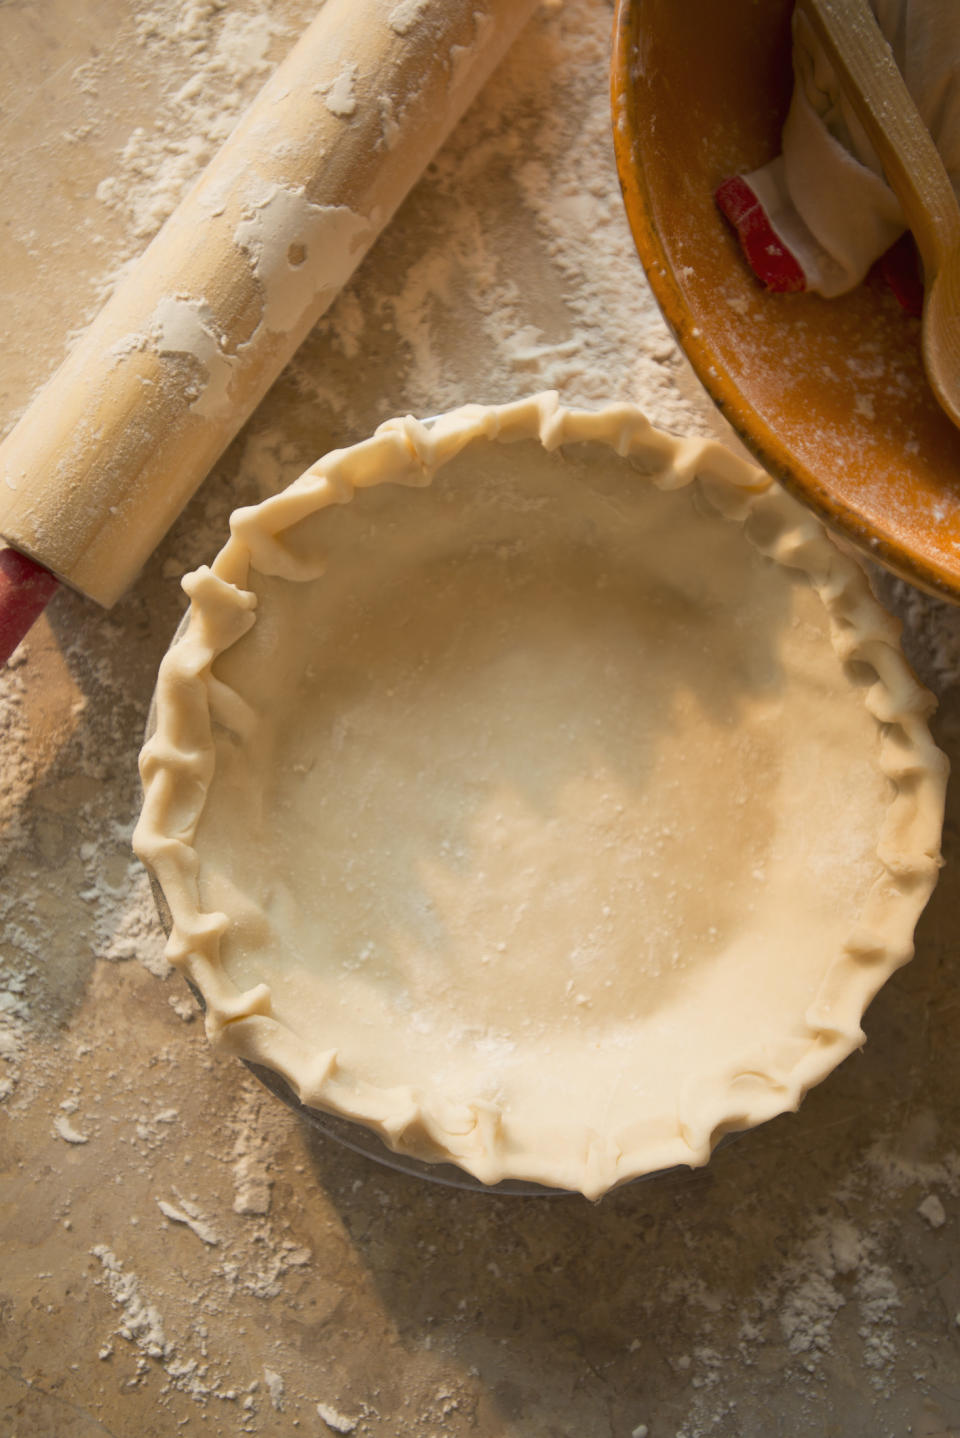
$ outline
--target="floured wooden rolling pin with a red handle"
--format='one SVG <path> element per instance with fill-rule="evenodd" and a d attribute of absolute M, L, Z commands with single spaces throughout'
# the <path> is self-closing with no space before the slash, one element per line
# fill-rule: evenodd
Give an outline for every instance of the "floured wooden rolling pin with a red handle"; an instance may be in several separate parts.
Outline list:
<path fill-rule="evenodd" d="M 0 663 L 119 598 L 535 4 L 325 0 L 0 446 Z"/>

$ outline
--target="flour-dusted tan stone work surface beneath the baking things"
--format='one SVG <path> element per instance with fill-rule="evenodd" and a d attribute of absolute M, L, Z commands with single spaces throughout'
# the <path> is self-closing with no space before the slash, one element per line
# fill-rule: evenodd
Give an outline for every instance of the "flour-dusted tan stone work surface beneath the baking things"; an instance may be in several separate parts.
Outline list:
<path fill-rule="evenodd" d="M 0 7 L 0 426 L 310 6 Z M 105 615 L 0 674 L 0 1429 L 481 1438 L 960 1432 L 956 797 L 917 958 L 796 1116 L 591 1206 L 424 1185 L 214 1060 L 129 834 L 180 575 L 394 413 L 558 388 L 721 424 L 634 256 L 611 14 L 543 9 Z M 960 611 L 882 581 L 960 756 Z"/>

